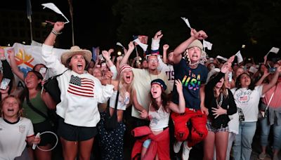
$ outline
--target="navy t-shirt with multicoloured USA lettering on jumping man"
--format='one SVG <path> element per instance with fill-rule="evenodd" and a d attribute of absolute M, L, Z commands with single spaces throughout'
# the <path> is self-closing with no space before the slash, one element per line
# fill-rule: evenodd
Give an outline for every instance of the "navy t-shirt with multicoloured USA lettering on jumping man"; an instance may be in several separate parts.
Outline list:
<path fill-rule="evenodd" d="M 174 65 L 175 80 L 180 79 L 183 84 L 183 96 L 185 98 L 185 107 L 192 109 L 200 109 L 200 86 L 205 84 L 207 80 L 208 69 L 204 65 L 199 64 L 197 68 L 190 68 L 186 60 Z M 178 91 L 174 84 L 172 101 L 178 104 Z"/>

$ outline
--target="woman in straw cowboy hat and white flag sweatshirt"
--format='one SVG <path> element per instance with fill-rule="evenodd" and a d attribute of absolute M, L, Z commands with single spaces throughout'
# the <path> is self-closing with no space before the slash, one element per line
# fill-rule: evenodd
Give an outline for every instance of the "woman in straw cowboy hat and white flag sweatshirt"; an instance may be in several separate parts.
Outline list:
<path fill-rule="evenodd" d="M 90 159 L 93 140 L 98 133 L 96 125 L 100 121 L 98 103 L 107 102 L 114 86 L 102 86 L 85 71 L 92 58 L 91 51 L 72 46 L 61 55 L 61 62 L 53 55 L 53 44 L 64 24 L 55 22 L 42 46 L 42 58 L 53 74 L 64 72 L 57 78 L 61 102 L 56 106 L 64 159 L 75 159 L 77 154 L 79 159 Z"/>

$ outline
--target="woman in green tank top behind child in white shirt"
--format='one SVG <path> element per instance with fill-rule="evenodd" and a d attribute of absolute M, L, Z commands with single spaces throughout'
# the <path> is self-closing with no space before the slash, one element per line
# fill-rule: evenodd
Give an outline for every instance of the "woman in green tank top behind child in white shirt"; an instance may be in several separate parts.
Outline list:
<path fill-rule="evenodd" d="M 33 124 L 34 133 L 42 133 L 44 131 L 52 131 L 50 122 L 46 117 L 48 117 L 48 107 L 55 107 L 53 101 L 48 99 L 46 92 L 41 93 L 41 81 L 43 76 L 37 71 L 27 72 L 25 77 L 25 89 L 20 95 L 20 100 L 23 106 L 23 115 L 30 119 Z M 45 116 L 35 111 L 33 107 L 44 114 Z M 54 109 L 54 108 L 50 108 Z M 52 136 L 49 134 L 42 135 L 42 140 L 39 144 L 41 149 L 50 149 L 52 142 Z M 51 160 L 51 151 L 44 152 L 36 148 L 33 152 L 32 148 L 28 148 L 30 156 L 35 156 L 36 159 L 49 159 Z"/>

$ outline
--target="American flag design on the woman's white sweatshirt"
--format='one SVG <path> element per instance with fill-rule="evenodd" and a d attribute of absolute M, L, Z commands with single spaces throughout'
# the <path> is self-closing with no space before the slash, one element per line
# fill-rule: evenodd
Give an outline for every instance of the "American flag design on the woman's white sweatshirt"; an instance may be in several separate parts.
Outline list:
<path fill-rule="evenodd" d="M 68 86 L 67 92 L 74 95 L 81 95 L 84 97 L 93 98 L 93 87 L 95 84 L 93 80 L 86 78 L 79 78 L 78 76 L 71 76 L 70 86 Z"/>

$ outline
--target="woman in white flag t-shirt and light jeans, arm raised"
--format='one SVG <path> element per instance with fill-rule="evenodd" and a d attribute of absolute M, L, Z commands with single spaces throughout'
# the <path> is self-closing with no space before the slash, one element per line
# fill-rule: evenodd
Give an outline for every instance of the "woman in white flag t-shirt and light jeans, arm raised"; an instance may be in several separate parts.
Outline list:
<path fill-rule="evenodd" d="M 250 159 L 251 142 L 256 131 L 256 121 L 259 113 L 259 99 L 272 88 L 278 79 L 281 67 L 277 67 L 273 79 L 269 84 L 263 86 L 254 86 L 254 81 L 247 72 L 240 74 L 237 77 L 235 86 L 231 91 L 237 105 L 239 120 L 239 133 L 236 135 L 233 154 L 234 159 Z"/>

